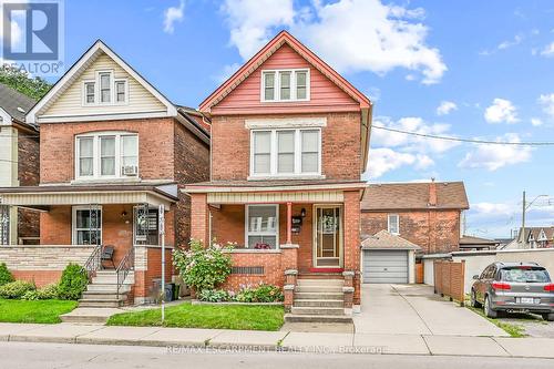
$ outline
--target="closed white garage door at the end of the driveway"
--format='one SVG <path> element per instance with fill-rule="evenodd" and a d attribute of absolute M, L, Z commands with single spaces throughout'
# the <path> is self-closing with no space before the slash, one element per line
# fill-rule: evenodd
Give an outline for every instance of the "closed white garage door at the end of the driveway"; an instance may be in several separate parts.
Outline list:
<path fill-rule="evenodd" d="M 407 284 L 407 250 L 363 250 L 365 284 Z"/>

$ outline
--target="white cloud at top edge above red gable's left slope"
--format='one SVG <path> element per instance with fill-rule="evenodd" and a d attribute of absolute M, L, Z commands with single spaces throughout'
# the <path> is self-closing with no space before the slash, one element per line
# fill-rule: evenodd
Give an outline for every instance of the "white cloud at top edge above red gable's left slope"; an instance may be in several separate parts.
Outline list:
<path fill-rule="evenodd" d="M 230 44 L 244 60 L 275 35 L 275 28 L 293 25 L 296 16 L 293 0 L 226 0 L 222 10 L 230 25 Z"/>

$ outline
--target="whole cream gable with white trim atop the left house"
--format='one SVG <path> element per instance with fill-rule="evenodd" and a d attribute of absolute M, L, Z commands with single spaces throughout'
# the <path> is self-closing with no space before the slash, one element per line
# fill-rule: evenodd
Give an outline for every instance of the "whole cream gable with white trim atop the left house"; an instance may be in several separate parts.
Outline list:
<path fill-rule="evenodd" d="M 27 114 L 30 123 L 177 116 L 177 109 L 96 41 Z"/>

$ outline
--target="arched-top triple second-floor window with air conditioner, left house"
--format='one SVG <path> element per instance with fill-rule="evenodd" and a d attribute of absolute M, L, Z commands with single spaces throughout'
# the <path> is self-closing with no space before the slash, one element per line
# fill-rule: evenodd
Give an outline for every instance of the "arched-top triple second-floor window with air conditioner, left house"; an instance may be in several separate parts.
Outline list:
<path fill-rule="evenodd" d="M 75 178 L 120 178 L 138 175 L 138 135 L 103 132 L 75 137 Z"/>

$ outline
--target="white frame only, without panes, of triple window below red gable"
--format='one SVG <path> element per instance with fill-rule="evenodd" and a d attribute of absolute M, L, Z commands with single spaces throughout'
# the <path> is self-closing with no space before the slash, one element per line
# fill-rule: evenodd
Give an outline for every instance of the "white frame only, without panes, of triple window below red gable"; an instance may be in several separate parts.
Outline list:
<path fill-rule="evenodd" d="M 278 141 L 277 132 L 294 131 L 295 132 L 295 170 L 291 173 L 278 173 Z M 318 132 L 318 168 L 317 172 L 302 172 L 301 158 L 301 132 L 302 131 L 317 131 Z M 270 132 L 270 150 L 269 150 L 269 173 L 255 173 L 254 167 L 254 135 L 256 132 Z M 320 127 L 284 127 L 284 129 L 259 129 L 250 130 L 250 175 L 249 178 L 265 178 L 265 177 L 314 177 L 321 176 L 321 129 Z"/>

